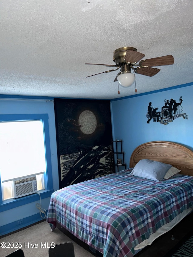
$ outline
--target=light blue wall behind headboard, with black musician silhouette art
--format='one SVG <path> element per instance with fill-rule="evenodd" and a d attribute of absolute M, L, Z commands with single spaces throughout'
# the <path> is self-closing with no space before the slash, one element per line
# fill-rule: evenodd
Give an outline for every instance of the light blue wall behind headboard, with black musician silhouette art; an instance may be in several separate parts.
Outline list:
<path fill-rule="evenodd" d="M 182 96 L 183 111 L 188 114 L 188 120 L 177 118 L 168 125 L 150 121 L 147 124 L 147 106 L 149 102 L 158 111 L 164 105 L 164 100 L 175 99 L 179 102 Z M 113 127 L 113 139 L 123 140 L 125 162 L 129 167 L 130 156 L 133 150 L 149 141 L 172 141 L 181 143 L 189 149 L 193 149 L 193 83 L 178 86 L 174 89 L 152 92 L 150 94 L 111 101 L 111 115 Z"/>

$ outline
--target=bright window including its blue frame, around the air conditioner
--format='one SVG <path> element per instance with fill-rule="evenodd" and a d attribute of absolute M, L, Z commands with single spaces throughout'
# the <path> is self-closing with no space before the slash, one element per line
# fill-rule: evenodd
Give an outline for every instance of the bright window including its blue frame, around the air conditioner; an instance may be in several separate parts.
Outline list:
<path fill-rule="evenodd" d="M 53 192 L 48 121 L 48 114 L 0 115 L 0 204 L 3 210 L 38 199 L 38 194 L 11 199 L 15 179 L 25 178 L 27 182 L 35 176 L 37 190 L 43 190 L 39 191 L 42 199 Z"/>

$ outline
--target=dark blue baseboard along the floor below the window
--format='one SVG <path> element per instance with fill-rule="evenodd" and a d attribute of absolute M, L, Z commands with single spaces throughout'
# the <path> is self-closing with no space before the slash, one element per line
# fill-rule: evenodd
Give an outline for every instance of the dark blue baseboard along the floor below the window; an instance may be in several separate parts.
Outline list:
<path fill-rule="evenodd" d="M 47 212 L 47 210 L 46 210 Z M 32 216 L 26 217 L 21 219 L 21 224 L 17 224 L 17 221 L 13 221 L 11 223 L 8 223 L 6 225 L 3 225 L 0 227 L 0 236 L 8 236 L 10 233 L 16 233 L 19 230 L 25 229 L 27 227 L 30 227 L 31 225 L 34 225 L 35 223 L 40 223 L 42 221 L 45 221 L 46 219 L 42 219 L 40 216 L 40 213 L 36 213 Z"/>

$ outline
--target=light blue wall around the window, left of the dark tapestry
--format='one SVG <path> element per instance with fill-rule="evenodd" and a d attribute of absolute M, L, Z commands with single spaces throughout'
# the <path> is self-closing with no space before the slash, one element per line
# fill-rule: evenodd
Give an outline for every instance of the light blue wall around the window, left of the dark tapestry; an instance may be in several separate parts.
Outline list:
<path fill-rule="evenodd" d="M 0 96 L 0 98 L 3 96 Z M 56 148 L 56 132 L 55 132 L 55 114 L 53 101 L 45 101 L 45 99 L 21 99 L 15 98 L 0 99 L 0 114 L 48 114 L 49 116 L 49 140 L 51 149 L 51 166 L 53 189 L 59 189 L 58 176 L 58 157 Z M 40 203 L 37 195 L 37 201 L 27 203 L 2 212 L 0 206 L 0 235 L 33 224 L 40 221 L 40 211 L 36 208 L 36 203 Z M 41 200 L 42 208 L 48 209 L 50 197 Z M 17 225 L 16 221 L 22 219 L 23 223 Z"/>

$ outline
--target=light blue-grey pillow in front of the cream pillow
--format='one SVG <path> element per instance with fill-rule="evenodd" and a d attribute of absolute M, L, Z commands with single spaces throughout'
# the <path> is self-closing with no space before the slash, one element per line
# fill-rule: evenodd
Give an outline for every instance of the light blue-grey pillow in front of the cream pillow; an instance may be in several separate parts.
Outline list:
<path fill-rule="evenodd" d="M 163 180 L 170 168 L 172 168 L 170 164 L 142 159 L 135 165 L 134 169 L 131 171 L 131 175 L 159 181 Z"/>

